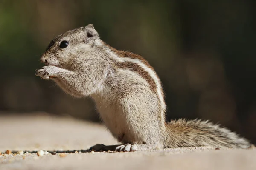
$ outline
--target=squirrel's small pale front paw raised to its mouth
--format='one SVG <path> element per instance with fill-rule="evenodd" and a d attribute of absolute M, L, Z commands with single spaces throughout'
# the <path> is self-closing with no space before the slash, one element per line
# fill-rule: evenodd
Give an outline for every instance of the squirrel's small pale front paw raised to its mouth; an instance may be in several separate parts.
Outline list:
<path fill-rule="evenodd" d="M 58 68 L 52 65 L 47 65 L 42 67 L 41 69 L 37 69 L 35 70 L 36 76 L 40 76 L 41 79 L 46 79 L 49 80 L 50 78 L 54 78 L 56 77 L 56 73 L 57 73 Z"/>

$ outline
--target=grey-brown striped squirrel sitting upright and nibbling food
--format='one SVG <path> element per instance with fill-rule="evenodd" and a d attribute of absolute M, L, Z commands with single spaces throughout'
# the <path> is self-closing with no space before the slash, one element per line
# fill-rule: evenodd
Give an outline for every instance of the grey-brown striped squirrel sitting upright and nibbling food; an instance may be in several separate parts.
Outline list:
<path fill-rule="evenodd" d="M 200 119 L 166 122 L 164 92 L 154 68 L 140 55 L 103 42 L 93 24 L 55 37 L 40 58 L 36 75 L 67 94 L 90 96 L 117 145 L 94 151 L 140 151 L 174 147 L 248 148 L 229 129 Z"/>

